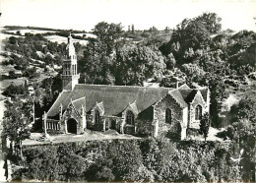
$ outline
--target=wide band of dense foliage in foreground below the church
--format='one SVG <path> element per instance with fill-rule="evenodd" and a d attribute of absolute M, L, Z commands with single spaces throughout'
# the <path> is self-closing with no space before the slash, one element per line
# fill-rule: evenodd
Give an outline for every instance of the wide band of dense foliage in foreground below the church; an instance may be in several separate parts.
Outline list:
<path fill-rule="evenodd" d="M 62 181 L 252 180 L 230 160 L 235 152 L 232 144 L 154 139 L 28 146 L 23 148 L 24 167 L 14 175 Z"/>

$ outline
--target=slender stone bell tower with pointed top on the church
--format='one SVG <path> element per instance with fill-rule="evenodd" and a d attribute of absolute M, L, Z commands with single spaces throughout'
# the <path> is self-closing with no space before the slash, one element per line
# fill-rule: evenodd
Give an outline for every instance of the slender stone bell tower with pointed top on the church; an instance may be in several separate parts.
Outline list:
<path fill-rule="evenodd" d="M 66 54 L 63 60 L 62 72 L 62 90 L 73 91 L 74 87 L 78 84 L 80 75 L 78 74 L 78 61 L 76 50 L 73 44 L 73 38 L 68 36 L 68 45 L 66 47 Z"/>

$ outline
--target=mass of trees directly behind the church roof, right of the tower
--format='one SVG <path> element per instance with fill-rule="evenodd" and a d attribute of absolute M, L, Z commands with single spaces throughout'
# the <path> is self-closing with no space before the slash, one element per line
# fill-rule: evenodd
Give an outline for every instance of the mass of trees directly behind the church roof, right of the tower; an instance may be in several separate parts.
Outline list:
<path fill-rule="evenodd" d="M 86 83 L 142 86 L 149 78 L 161 79 L 165 63 L 159 50 L 126 42 L 120 24 L 98 23 L 94 33 L 79 62 Z"/>

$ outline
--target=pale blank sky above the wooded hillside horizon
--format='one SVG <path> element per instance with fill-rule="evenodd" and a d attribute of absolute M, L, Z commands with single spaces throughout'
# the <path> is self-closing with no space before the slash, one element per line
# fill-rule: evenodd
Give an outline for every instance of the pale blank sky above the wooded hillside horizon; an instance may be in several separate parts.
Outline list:
<path fill-rule="evenodd" d="M 92 30 L 121 23 L 124 30 L 173 29 L 185 18 L 217 13 L 223 29 L 256 31 L 256 0 L 0 0 L 0 26 Z"/>

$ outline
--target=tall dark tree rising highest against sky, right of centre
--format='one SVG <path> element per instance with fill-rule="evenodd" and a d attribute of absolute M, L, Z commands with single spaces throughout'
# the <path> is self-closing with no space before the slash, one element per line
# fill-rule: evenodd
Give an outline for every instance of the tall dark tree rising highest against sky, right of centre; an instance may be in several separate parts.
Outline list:
<path fill-rule="evenodd" d="M 206 47 L 211 41 L 211 35 L 218 33 L 222 25 L 221 18 L 215 13 L 204 13 L 194 19 L 185 19 L 173 30 L 169 42 L 160 46 L 160 51 L 164 56 L 173 53 L 177 64 L 182 65 L 190 62 L 190 58 L 185 58 L 185 51 L 192 48 L 197 50 Z M 177 51 L 173 48 L 173 43 L 179 42 Z"/>

